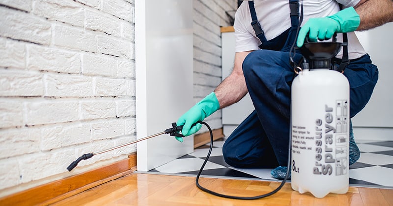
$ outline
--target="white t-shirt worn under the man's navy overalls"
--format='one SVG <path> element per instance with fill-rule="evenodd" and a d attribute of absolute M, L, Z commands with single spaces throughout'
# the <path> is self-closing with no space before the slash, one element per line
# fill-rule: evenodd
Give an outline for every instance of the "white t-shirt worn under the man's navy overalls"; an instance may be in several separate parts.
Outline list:
<path fill-rule="evenodd" d="M 333 15 L 340 11 L 338 3 L 344 7 L 355 6 L 360 0 L 303 0 L 303 22 L 307 22 L 309 18 L 325 17 Z M 338 3 L 337 3 L 338 2 Z M 299 0 L 301 3 L 301 0 Z M 291 19 L 289 16 L 289 0 L 254 0 L 255 11 L 261 28 L 265 33 L 267 40 L 271 40 L 279 36 L 282 32 L 291 27 Z M 300 13 L 299 5 L 299 13 Z M 235 14 L 235 39 L 236 52 L 244 52 L 250 50 L 258 50 L 261 44 L 256 37 L 255 31 L 251 26 L 252 19 L 248 2 L 243 2 Z M 337 35 L 337 42 L 342 42 L 342 35 Z M 348 33 L 348 54 L 349 59 L 355 59 L 366 54 L 362 45 L 354 32 Z M 342 57 L 342 49 L 338 53 L 337 58 Z"/>

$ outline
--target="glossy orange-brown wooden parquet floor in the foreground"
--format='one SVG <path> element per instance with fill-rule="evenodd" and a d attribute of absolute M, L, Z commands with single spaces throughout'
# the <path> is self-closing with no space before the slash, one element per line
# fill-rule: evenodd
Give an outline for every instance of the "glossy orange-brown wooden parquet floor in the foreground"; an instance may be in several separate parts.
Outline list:
<path fill-rule="evenodd" d="M 251 180 L 201 178 L 200 184 L 219 193 L 256 196 L 275 189 L 280 183 Z M 281 190 L 258 200 L 233 200 L 205 193 L 195 185 L 195 177 L 132 173 L 94 187 L 54 205 L 116 206 L 392 206 L 393 190 L 350 187 L 347 194 L 314 198 L 299 194 L 287 183 Z"/>

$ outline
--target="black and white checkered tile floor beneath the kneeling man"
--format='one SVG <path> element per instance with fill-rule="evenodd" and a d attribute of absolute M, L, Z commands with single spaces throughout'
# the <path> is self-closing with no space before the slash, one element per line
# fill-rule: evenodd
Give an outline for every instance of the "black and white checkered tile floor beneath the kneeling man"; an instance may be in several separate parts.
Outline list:
<path fill-rule="evenodd" d="M 202 176 L 281 181 L 270 175 L 271 169 L 238 169 L 229 166 L 222 155 L 223 144 L 224 141 L 213 143 L 213 151 Z M 357 141 L 357 144 L 361 156 L 358 162 L 349 167 L 350 186 L 393 189 L 393 141 Z M 149 172 L 196 176 L 208 151 L 209 144 Z"/>

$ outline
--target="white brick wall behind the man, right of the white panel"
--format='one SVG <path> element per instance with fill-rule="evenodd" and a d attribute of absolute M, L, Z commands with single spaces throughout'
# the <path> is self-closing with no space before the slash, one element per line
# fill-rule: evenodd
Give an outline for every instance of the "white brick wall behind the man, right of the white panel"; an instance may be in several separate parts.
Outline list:
<path fill-rule="evenodd" d="M 237 8 L 237 0 L 193 0 L 194 102 L 210 94 L 221 82 L 220 26 L 231 26 L 225 11 Z M 212 129 L 222 128 L 221 111 L 206 122 Z M 208 131 L 206 127 L 198 133 Z"/>

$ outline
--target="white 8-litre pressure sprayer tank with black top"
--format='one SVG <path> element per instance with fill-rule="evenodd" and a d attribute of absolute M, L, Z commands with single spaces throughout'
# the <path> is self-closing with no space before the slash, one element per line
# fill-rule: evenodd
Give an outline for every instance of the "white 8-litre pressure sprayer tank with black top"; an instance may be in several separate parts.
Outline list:
<path fill-rule="evenodd" d="M 331 69 L 345 43 L 305 43 L 309 60 L 292 82 L 292 189 L 322 198 L 344 194 L 349 184 L 349 83 Z"/>

